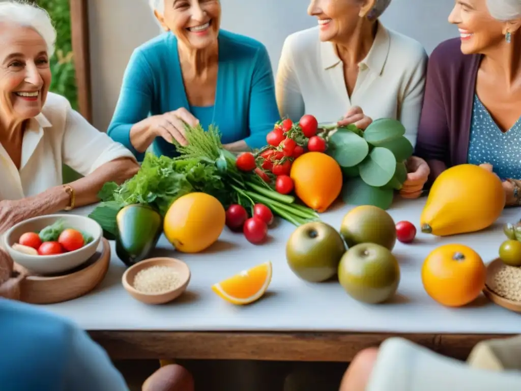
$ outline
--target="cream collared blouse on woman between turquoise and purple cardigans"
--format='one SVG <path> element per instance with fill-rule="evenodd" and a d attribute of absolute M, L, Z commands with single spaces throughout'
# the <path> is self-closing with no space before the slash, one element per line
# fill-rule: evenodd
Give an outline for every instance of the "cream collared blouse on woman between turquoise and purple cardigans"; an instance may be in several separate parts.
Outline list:
<path fill-rule="evenodd" d="M 277 72 L 280 115 L 298 121 L 312 114 L 319 122 L 336 122 L 350 107 L 359 106 L 373 119 L 401 121 L 414 146 L 427 60 L 419 42 L 378 22 L 373 46 L 358 64 L 349 96 L 334 44 L 320 41 L 318 27 L 293 33 L 284 41 Z"/>

